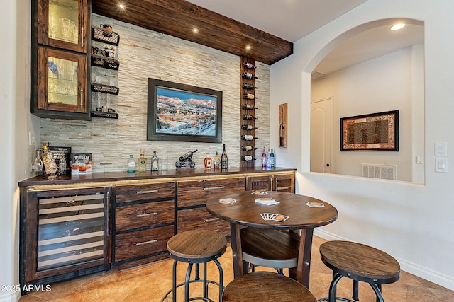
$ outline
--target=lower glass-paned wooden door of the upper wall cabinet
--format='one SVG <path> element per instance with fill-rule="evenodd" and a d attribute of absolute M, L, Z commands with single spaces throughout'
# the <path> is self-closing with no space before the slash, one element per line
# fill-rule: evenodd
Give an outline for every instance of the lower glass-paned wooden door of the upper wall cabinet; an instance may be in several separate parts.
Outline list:
<path fill-rule="evenodd" d="M 49 117 L 51 111 L 89 114 L 87 58 L 44 47 L 38 47 L 38 57 L 37 102 L 31 106 L 32 113 L 41 117 Z"/>

